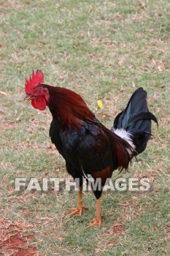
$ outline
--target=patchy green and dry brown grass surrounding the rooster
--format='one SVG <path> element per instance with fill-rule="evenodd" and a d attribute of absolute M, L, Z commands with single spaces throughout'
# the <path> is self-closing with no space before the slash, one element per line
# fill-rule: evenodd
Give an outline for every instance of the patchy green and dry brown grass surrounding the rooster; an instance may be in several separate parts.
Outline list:
<path fill-rule="evenodd" d="M 41 255 L 169 255 L 169 10 L 168 0 L 2 0 L 1 217 L 33 225 L 31 243 Z M 62 219 L 76 192 L 14 190 L 15 177 L 69 177 L 48 137 L 49 110 L 23 102 L 32 69 L 42 69 L 46 83 L 81 94 L 107 127 L 136 88 L 148 92 L 159 129 L 153 125 L 147 150 L 121 176 L 147 176 L 151 189 L 105 192 L 101 230 L 83 230 L 95 214 L 91 192 L 82 218 Z"/>

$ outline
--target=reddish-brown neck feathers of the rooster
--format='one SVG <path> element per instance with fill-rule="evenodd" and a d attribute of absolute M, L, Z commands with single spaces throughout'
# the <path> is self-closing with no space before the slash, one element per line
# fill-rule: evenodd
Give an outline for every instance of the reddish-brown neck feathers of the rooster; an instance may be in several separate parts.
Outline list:
<path fill-rule="evenodd" d="M 69 89 L 45 86 L 50 94 L 48 107 L 62 129 L 80 129 L 82 121 L 95 123 L 95 115 L 82 97 Z"/>

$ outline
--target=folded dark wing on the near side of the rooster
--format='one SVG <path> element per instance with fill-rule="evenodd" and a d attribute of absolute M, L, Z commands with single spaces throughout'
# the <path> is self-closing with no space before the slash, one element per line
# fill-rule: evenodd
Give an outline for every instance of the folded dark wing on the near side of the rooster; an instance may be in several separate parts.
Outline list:
<path fill-rule="evenodd" d="M 112 151 L 108 135 L 96 124 L 84 124 L 85 135 L 77 146 L 84 175 L 101 178 L 102 186 L 112 176 Z"/>

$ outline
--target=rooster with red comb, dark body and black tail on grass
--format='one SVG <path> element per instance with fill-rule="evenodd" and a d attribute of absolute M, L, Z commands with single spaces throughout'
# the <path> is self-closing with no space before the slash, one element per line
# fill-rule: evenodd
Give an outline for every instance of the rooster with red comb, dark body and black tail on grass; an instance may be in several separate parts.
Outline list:
<path fill-rule="evenodd" d="M 97 178 L 101 186 L 92 186 L 96 197 L 96 219 L 88 225 L 101 227 L 101 194 L 107 178 L 116 169 L 127 170 L 131 159 L 144 151 L 151 136 L 151 120 L 157 118 L 147 108 L 147 92 L 134 91 L 127 107 L 119 113 L 113 127 L 107 129 L 96 118 L 79 94 L 44 83 L 42 71 L 32 72 L 25 84 L 25 100 L 39 110 L 49 108 L 53 120 L 50 138 L 66 161 L 66 170 L 79 180 L 77 208 L 68 214 L 82 215 L 83 178 L 91 184 Z"/>

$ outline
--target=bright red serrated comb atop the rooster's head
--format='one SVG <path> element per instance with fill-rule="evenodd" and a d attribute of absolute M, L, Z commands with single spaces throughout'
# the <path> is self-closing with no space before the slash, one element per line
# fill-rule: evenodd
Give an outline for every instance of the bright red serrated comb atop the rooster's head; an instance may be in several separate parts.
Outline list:
<path fill-rule="evenodd" d="M 29 80 L 26 79 L 25 83 L 25 91 L 26 94 L 32 94 L 34 91 L 34 87 L 37 86 L 39 83 L 44 82 L 44 74 L 41 70 L 36 70 L 36 72 L 32 72 L 32 77 Z"/>

